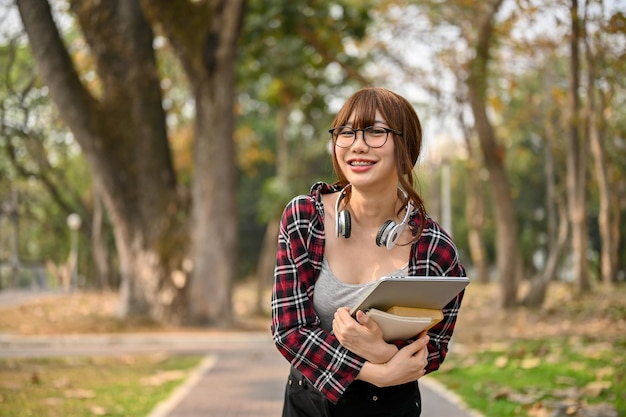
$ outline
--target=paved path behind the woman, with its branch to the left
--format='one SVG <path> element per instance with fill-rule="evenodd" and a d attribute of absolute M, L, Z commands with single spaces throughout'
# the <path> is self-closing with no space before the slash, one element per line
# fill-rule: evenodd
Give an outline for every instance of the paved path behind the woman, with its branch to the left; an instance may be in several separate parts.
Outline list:
<path fill-rule="evenodd" d="M 0 292 L 2 294 L 2 292 Z M 0 296 L 0 308 L 2 307 Z M 6 304 L 4 304 L 6 305 Z M 1 314 L 1 311 L 0 311 Z M 0 357 L 202 354 L 192 375 L 148 417 L 278 417 L 288 363 L 269 332 L 186 332 L 68 336 L 0 334 Z M 476 417 L 431 378 L 420 382 L 422 417 Z"/>

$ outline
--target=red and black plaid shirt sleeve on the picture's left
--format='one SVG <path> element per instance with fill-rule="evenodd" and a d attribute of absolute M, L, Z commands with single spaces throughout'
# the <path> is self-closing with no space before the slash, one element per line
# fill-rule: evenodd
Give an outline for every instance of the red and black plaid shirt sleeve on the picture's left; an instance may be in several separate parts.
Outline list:
<path fill-rule="evenodd" d="M 324 251 L 322 218 L 312 196 L 294 198 L 281 219 L 274 285 L 272 335 L 281 354 L 337 402 L 364 360 L 323 330 L 313 309 L 313 288 Z"/>

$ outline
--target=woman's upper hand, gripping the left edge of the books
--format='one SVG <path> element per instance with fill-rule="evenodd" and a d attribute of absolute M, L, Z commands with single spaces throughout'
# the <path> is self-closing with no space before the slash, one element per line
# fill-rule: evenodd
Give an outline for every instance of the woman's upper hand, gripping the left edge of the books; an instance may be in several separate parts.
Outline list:
<path fill-rule="evenodd" d="M 360 310 L 355 320 L 348 307 L 339 308 L 333 320 L 333 333 L 343 347 L 372 363 L 386 363 L 398 352 L 395 345 L 383 340 L 378 324 Z"/>

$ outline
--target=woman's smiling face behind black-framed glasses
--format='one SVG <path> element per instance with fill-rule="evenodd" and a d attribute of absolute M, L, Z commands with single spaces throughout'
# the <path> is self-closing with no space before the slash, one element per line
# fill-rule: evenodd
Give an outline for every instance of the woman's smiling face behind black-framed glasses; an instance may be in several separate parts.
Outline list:
<path fill-rule="evenodd" d="M 354 127 L 354 120 L 356 120 L 355 115 L 350 115 L 346 126 Z M 378 111 L 373 126 L 390 127 Z M 374 185 L 396 187 L 398 174 L 396 171 L 394 134 L 389 133 L 387 141 L 380 148 L 369 147 L 363 140 L 363 134 L 363 131 L 357 131 L 356 140 L 349 147 L 342 148 L 335 145 L 335 157 L 341 172 L 348 182 L 356 187 Z"/>

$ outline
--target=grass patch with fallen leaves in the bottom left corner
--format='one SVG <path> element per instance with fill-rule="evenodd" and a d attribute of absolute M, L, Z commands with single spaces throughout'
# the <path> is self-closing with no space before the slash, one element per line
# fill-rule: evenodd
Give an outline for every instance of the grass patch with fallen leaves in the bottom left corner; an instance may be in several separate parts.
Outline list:
<path fill-rule="evenodd" d="M 2 359 L 0 416 L 147 416 L 201 360 L 163 355 Z"/>

